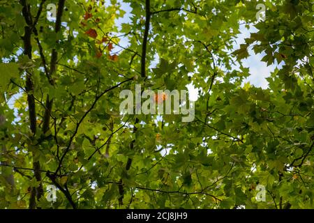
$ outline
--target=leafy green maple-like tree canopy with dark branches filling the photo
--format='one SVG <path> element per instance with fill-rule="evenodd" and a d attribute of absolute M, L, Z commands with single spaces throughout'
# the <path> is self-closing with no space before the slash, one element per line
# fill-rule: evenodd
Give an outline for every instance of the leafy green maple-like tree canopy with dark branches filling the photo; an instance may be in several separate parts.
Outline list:
<path fill-rule="evenodd" d="M 313 208 L 313 11 L 1 0 L 0 208 Z M 267 88 L 244 84 L 250 49 L 276 66 Z M 189 84 L 193 121 L 119 110 L 125 89 Z"/>

